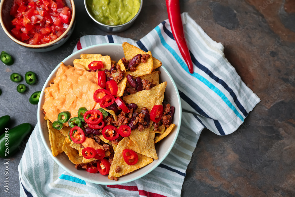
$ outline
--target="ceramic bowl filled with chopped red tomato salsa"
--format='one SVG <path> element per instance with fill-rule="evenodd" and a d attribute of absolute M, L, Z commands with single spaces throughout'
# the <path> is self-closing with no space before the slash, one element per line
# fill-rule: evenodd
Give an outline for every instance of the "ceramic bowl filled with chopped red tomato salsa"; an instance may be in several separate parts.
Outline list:
<path fill-rule="evenodd" d="M 31 51 L 51 51 L 73 32 L 73 0 L 2 0 L 1 26 L 14 42 Z"/>

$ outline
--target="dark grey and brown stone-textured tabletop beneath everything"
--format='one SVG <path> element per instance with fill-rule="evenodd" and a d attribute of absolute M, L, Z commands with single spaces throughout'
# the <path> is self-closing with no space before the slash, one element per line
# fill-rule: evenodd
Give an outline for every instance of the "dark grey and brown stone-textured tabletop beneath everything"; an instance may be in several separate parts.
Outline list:
<path fill-rule="evenodd" d="M 71 53 L 81 35 L 106 35 L 88 17 L 82 1 L 75 3 L 75 31 L 55 51 L 27 51 L 0 30 L 0 50 L 15 58 L 12 66 L 0 66 L 0 116 L 10 115 L 11 127 L 37 123 L 37 106 L 30 105 L 28 98 L 41 90 L 63 54 Z M 294 2 L 190 0 L 181 2 L 181 12 L 188 12 L 213 40 L 224 44 L 225 57 L 261 99 L 235 133 L 201 133 L 186 171 L 182 196 L 295 196 Z M 138 40 L 165 19 L 165 1 L 144 1 L 135 24 L 116 35 Z M 27 71 L 35 71 L 38 82 L 22 95 L 9 75 Z M 9 196 L 19 196 L 17 166 L 21 155 L 19 152 L 10 160 Z M 2 196 L 4 175 L 0 177 Z"/>

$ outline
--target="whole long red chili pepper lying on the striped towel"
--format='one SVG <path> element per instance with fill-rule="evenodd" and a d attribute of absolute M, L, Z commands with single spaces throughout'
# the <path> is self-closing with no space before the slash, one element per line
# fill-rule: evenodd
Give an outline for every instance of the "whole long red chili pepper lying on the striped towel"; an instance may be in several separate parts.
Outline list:
<path fill-rule="evenodd" d="M 181 22 L 179 0 L 166 0 L 166 5 L 172 34 L 184 61 L 189 67 L 189 72 L 193 74 L 193 63 L 191 61 L 191 55 L 189 54 L 189 48 L 186 44 Z"/>

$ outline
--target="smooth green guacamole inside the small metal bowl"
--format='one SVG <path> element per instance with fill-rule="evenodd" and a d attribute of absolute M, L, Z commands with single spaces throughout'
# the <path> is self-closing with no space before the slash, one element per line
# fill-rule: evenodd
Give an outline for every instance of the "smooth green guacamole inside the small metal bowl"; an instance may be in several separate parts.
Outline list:
<path fill-rule="evenodd" d="M 135 17 L 140 0 L 87 0 L 87 7 L 98 22 L 122 25 Z"/>

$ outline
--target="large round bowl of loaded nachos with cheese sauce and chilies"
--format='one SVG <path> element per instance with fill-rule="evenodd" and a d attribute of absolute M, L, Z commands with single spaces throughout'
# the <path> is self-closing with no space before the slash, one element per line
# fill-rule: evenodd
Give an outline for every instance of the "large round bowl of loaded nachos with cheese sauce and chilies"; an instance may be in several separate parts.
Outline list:
<path fill-rule="evenodd" d="M 82 180 L 113 185 L 141 178 L 165 159 L 180 129 L 181 102 L 153 55 L 126 42 L 99 44 L 52 71 L 37 118 L 58 165 Z"/>

